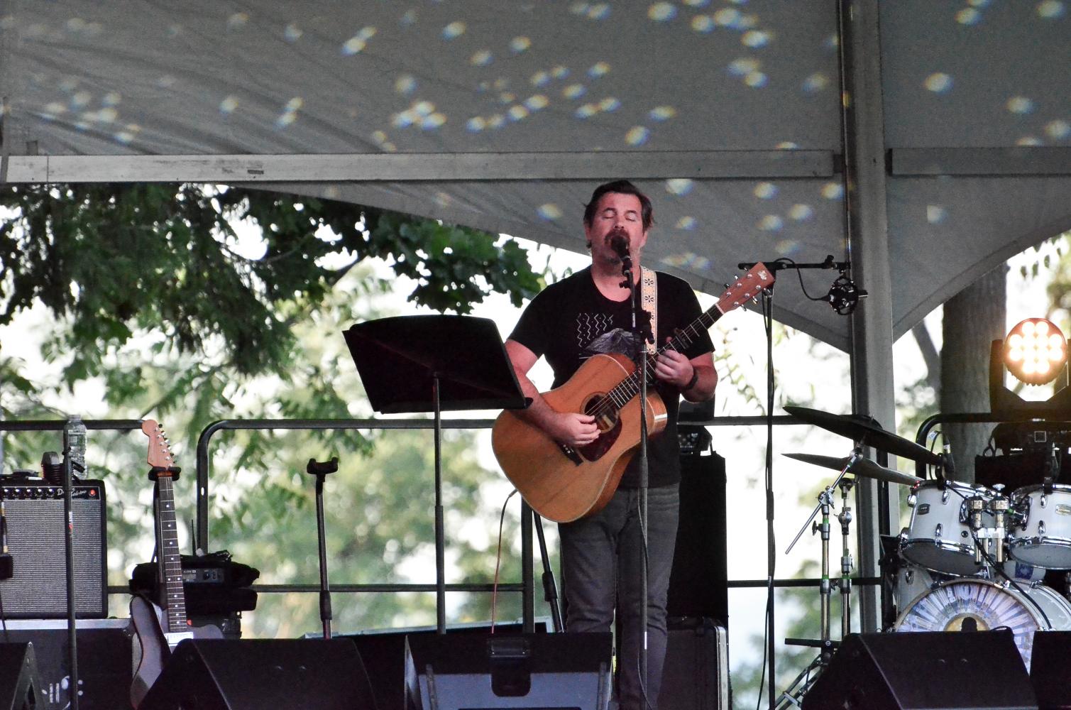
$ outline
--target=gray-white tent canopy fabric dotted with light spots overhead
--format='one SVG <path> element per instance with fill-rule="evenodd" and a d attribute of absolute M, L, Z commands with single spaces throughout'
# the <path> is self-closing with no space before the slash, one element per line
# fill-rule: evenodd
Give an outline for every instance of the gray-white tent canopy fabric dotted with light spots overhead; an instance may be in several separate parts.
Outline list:
<path fill-rule="evenodd" d="M 1071 227 L 1068 5 L 880 3 L 894 336 Z M 844 153 L 835 10 L 3 0 L 11 160 L 0 178 L 29 180 L 25 155 L 156 155 L 165 180 L 168 156 L 412 155 L 419 172 L 427 155 L 486 154 L 494 180 L 429 167 L 407 181 L 341 182 L 306 170 L 270 186 L 583 251 L 597 177 L 639 176 L 658 222 L 648 260 L 716 292 L 737 261 L 848 256 L 832 169 Z M 970 152 L 1014 147 L 1028 150 L 982 153 L 980 167 Z M 921 168 L 916 152 L 897 171 L 916 149 L 944 152 Z M 515 154 L 582 156 L 607 175 L 531 179 L 524 162 L 502 162 Z M 793 162 L 808 155 L 810 167 Z M 823 294 L 832 274 L 806 281 Z M 776 303 L 783 321 L 847 347 L 847 319 L 803 299 L 795 280 L 782 280 Z"/>

